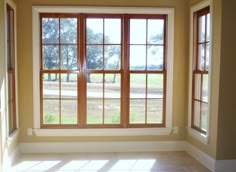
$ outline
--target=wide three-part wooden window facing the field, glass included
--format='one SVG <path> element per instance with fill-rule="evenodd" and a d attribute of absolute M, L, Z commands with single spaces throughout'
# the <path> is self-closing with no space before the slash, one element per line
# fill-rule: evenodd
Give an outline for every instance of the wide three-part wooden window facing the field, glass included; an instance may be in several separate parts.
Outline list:
<path fill-rule="evenodd" d="M 41 127 L 164 127 L 166 20 L 41 14 Z"/>

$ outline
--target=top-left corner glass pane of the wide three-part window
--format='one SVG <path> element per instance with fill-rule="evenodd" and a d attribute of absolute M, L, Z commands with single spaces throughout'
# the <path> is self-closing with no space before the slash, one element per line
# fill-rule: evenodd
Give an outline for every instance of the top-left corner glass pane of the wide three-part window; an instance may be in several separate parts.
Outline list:
<path fill-rule="evenodd" d="M 59 19 L 43 18 L 42 19 L 42 40 L 43 43 L 59 42 Z"/>

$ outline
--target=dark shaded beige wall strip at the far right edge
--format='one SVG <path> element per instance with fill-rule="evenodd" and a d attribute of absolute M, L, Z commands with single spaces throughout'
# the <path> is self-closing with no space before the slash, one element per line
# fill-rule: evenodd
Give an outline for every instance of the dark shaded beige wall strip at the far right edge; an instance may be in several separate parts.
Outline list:
<path fill-rule="evenodd" d="M 236 1 L 222 0 L 217 159 L 236 159 Z"/>

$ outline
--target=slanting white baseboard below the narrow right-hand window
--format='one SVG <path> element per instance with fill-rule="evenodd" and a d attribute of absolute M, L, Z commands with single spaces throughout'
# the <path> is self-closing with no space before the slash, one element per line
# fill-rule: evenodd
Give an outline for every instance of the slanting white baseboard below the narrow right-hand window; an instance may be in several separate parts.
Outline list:
<path fill-rule="evenodd" d="M 193 146 L 192 144 L 190 144 L 188 142 L 185 142 L 185 145 L 186 145 L 185 151 L 188 154 L 190 154 L 193 158 L 195 158 L 200 163 L 202 163 L 209 170 L 211 170 L 211 171 L 215 170 L 215 159 L 214 158 L 207 155 L 206 153 L 204 153 L 203 151 L 201 151 L 200 149 L 198 149 L 197 147 Z"/>

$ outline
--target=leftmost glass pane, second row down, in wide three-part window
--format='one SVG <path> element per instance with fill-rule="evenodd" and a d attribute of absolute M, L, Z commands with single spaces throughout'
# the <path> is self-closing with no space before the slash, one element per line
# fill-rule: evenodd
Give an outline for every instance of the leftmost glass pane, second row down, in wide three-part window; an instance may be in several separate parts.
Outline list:
<path fill-rule="evenodd" d="M 59 69 L 59 47 L 56 45 L 43 46 L 43 69 Z"/>

